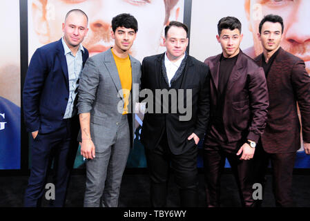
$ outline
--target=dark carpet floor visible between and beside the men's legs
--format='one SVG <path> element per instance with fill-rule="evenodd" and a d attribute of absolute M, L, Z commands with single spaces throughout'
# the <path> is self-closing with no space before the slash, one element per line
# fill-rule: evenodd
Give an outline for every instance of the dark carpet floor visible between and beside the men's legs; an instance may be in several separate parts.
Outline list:
<path fill-rule="evenodd" d="M 199 206 L 206 206 L 204 193 L 204 177 L 199 175 Z M 3 176 L 0 177 L 0 207 L 20 207 L 23 206 L 23 193 L 28 182 L 28 176 Z M 221 181 L 221 206 L 240 207 L 240 200 L 237 185 L 233 175 L 222 175 Z M 120 207 L 148 207 L 150 184 L 148 174 L 125 173 L 123 177 L 121 193 L 119 195 Z M 177 186 L 173 182 L 173 176 L 168 184 L 168 207 L 180 205 L 180 198 Z M 72 175 L 68 195 L 67 207 L 83 206 L 85 191 L 85 175 Z M 310 207 L 310 175 L 293 176 L 293 197 L 297 207 Z M 275 206 L 273 193 L 271 190 L 271 175 L 267 175 L 267 188 L 263 197 L 262 206 Z M 44 200 L 42 206 L 48 206 L 48 201 Z"/>

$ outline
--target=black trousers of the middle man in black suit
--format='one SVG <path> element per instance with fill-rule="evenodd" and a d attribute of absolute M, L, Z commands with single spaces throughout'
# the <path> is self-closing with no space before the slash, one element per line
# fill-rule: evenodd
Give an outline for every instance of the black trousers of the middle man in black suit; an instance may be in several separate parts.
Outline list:
<path fill-rule="evenodd" d="M 175 182 L 180 189 L 181 206 L 197 206 L 198 172 L 197 172 L 197 145 L 186 153 L 174 155 L 168 146 L 166 132 L 154 150 L 146 148 L 146 161 L 151 178 L 151 206 L 166 206 L 168 177 L 170 167 L 175 176 Z"/>

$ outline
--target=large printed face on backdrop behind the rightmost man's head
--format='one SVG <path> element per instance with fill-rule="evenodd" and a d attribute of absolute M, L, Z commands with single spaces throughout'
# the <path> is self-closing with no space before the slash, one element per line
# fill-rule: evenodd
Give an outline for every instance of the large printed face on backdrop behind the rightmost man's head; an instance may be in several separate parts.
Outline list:
<path fill-rule="evenodd" d="M 280 46 L 300 57 L 310 73 L 310 1 L 309 0 L 245 0 L 249 30 L 253 32 L 254 46 L 248 54 L 255 57 L 262 52 L 258 26 L 264 15 L 280 15 L 284 22 Z M 246 52 L 246 51 L 245 51 Z"/>

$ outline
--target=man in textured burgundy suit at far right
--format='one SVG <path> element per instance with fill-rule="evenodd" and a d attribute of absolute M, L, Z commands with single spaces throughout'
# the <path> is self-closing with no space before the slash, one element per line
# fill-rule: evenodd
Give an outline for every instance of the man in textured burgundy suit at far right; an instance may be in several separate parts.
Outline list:
<path fill-rule="evenodd" d="M 273 192 L 277 206 L 293 206 L 291 183 L 296 151 L 300 148 L 302 117 L 304 151 L 310 154 L 310 77 L 304 61 L 280 47 L 283 20 L 267 15 L 260 21 L 258 39 L 263 52 L 255 62 L 264 68 L 269 90 L 267 126 L 255 153 L 257 182 L 264 186 L 264 175 L 271 160 Z M 261 204 L 261 201 L 260 201 Z"/>

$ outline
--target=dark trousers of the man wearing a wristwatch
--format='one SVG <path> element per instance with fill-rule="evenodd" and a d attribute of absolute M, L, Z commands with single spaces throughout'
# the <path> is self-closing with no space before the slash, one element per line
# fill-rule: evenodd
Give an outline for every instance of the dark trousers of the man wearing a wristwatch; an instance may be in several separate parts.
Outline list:
<path fill-rule="evenodd" d="M 224 144 L 209 142 L 204 144 L 204 177 L 206 182 L 206 202 L 208 207 L 220 206 L 220 178 L 225 160 L 229 160 L 238 185 L 242 206 L 255 206 L 253 200 L 253 160 L 239 160 L 236 155 L 243 142 Z"/>

